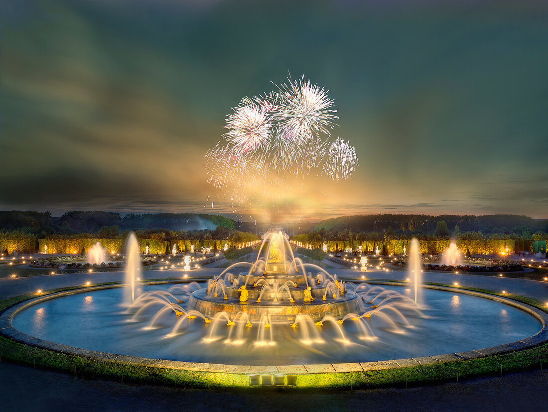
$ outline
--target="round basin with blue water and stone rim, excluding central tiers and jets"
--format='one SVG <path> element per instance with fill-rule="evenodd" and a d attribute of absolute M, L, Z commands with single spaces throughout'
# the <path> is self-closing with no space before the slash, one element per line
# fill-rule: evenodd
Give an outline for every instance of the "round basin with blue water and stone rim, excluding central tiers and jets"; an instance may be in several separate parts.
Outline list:
<path fill-rule="evenodd" d="M 426 296 L 428 300 L 438 302 L 440 305 L 435 304 L 437 308 L 449 306 L 453 307 L 453 310 L 448 311 L 444 317 L 439 313 L 439 316 L 423 321 L 435 323 L 430 334 L 425 335 L 425 330 L 422 328 L 410 329 L 406 334 L 380 333 L 378 340 L 371 344 L 365 342 L 365 345 L 363 345 L 364 342 L 350 346 L 340 343 L 332 345 L 331 341 L 327 341 L 327 344 L 312 345 L 277 344 L 265 350 L 265 348 L 253 345 L 253 340 L 259 331 L 257 324 L 253 328 L 244 328 L 250 342 L 242 345 L 235 342 L 225 343 L 224 338 L 205 344 L 201 339 L 197 339 L 199 335 L 197 335 L 196 329 L 192 328 L 178 336 L 165 339 L 164 336 L 169 330 L 159 328 L 144 331 L 142 323 L 128 323 L 124 316 L 111 313 L 111 305 L 115 305 L 118 311 L 122 311 L 122 308 L 115 303 L 121 296 L 121 290 L 112 287 L 106 290 L 89 288 L 38 297 L 10 308 L 2 314 L 0 322 L 5 326 L 1 329 L 2 334 L 37 346 L 99 358 L 106 356 L 105 353 L 123 353 L 123 355 L 111 355 L 111 357 L 120 357 L 120 359 L 138 357 L 135 359 L 139 359 L 140 364 L 143 364 L 144 358 L 162 358 L 171 362 L 167 364 L 178 364 L 177 368 L 182 367 L 182 363 L 190 365 L 189 362 L 191 362 L 193 368 L 198 368 L 195 370 L 206 370 L 210 363 L 231 365 L 296 364 L 301 365 L 301 369 L 302 365 L 311 364 L 319 371 L 318 365 L 335 365 L 336 362 L 342 362 L 335 370 L 350 371 L 355 367 L 359 367 L 359 370 L 371 370 L 367 368 L 375 367 L 376 362 L 388 362 L 390 368 L 397 368 L 401 365 L 408 366 L 418 363 L 415 360 L 398 363 L 387 361 L 387 359 L 420 358 L 421 364 L 423 362 L 440 362 L 440 359 L 456 361 L 527 348 L 548 340 L 547 316 L 544 312 L 496 296 L 451 290 L 450 288 L 437 289 L 443 289 L 443 291 L 428 289 L 427 294 L 434 293 L 434 295 Z M 443 299 L 444 296 L 446 299 Z M 457 300 L 455 296 L 459 297 L 458 305 L 455 304 Z M 55 299 L 57 297 L 60 299 Z M 479 299 L 479 297 L 488 297 L 488 299 Z M 468 304 L 472 304 L 472 306 L 465 304 L 467 298 L 471 299 Z M 488 305 L 484 306 L 483 304 L 486 302 Z M 502 302 L 505 305 L 501 304 Z M 478 311 L 482 312 L 482 317 L 470 316 L 471 313 Z M 496 319 L 494 319 L 493 313 L 496 314 Z M 515 318 L 516 314 L 518 318 Z M 495 324 L 494 321 L 500 321 L 501 318 L 503 322 Z M 8 326 L 12 319 L 14 327 L 19 330 Z M 185 322 L 202 329 L 203 323 L 198 321 L 199 319 L 193 319 L 191 322 Z M 450 321 L 453 323 L 450 324 Z M 470 327 L 473 323 L 477 324 L 477 328 Z M 525 329 L 522 328 L 524 323 L 528 324 Z M 234 327 L 229 327 L 221 329 L 221 331 L 228 334 L 228 330 L 231 328 L 236 330 L 233 329 Z M 539 329 L 541 329 L 540 332 L 535 334 L 535 331 Z M 502 334 L 493 336 L 494 330 L 499 330 Z M 336 337 L 333 328 L 322 328 L 322 331 L 326 331 L 328 336 Z M 299 335 L 299 328 L 292 329 L 286 325 L 284 329 L 280 330 L 281 336 L 288 334 L 289 342 L 292 342 L 292 339 Z M 534 336 L 527 337 L 528 335 Z M 466 336 L 473 337 L 474 340 L 459 341 L 460 338 L 464 339 Z M 479 340 L 476 340 L 478 337 Z M 484 349 L 477 349 L 478 347 Z M 447 355 L 436 356 L 439 353 Z M 354 365 L 352 362 L 357 363 Z M 361 366 L 364 364 L 368 365 L 366 369 Z M 383 369 L 385 367 L 386 364 Z M 296 367 L 283 368 L 288 370 L 288 368 L 295 369 Z M 242 369 L 242 373 L 253 373 L 255 369 L 253 366 L 248 366 L 246 371 Z M 313 368 L 309 369 L 302 369 L 302 373 L 314 370 Z M 327 369 L 333 371 L 333 367 Z"/>

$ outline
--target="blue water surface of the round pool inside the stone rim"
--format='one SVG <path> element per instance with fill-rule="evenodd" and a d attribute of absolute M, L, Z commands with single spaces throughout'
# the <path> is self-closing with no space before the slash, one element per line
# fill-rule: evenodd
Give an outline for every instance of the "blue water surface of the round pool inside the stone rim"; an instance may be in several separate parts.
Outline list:
<path fill-rule="evenodd" d="M 385 288 L 412 294 L 408 287 Z M 165 289 L 166 285 L 141 285 L 137 293 Z M 268 328 L 257 322 L 251 327 L 243 322 L 204 323 L 200 318 L 179 322 L 173 311 L 160 313 L 153 305 L 129 313 L 122 301 L 122 288 L 84 290 L 26 307 L 15 314 L 12 325 L 31 336 L 99 352 L 239 365 L 433 356 L 502 345 L 541 329 L 538 319 L 517 307 L 433 289 L 424 289 L 421 311 L 404 312 L 397 325 L 383 316 L 371 316 L 363 323 L 349 317 L 344 325 L 334 319 L 320 326 L 271 324 Z"/>

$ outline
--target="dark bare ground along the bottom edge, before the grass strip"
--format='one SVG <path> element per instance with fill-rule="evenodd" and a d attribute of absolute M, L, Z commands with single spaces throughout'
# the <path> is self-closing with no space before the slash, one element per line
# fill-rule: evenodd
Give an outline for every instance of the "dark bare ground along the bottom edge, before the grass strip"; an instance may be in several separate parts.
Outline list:
<path fill-rule="evenodd" d="M 206 391 L 73 379 L 0 363 L 2 411 L 548 410 L 548 370 L 459 384 L 358 391 Z"/>

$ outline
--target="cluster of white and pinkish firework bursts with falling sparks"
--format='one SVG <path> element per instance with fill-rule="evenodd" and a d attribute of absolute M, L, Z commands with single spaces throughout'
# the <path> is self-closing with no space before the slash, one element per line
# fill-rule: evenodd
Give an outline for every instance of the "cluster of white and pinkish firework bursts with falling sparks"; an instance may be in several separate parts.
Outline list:
<path fill-rule="evenodd" d="M 206 153 L 208 182 L 225 190 L 231 202 L 247 203 L 250 193 L 279 197 L 291 190 L 290 179 L 313 171 L 346 179 L 358 165 L 350 142 L 330 141 L 338 117 L 325 88 L 304 76 L 276 88 L 233 107 L 224 144 L 219 141 Z"/>

